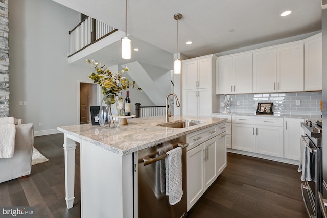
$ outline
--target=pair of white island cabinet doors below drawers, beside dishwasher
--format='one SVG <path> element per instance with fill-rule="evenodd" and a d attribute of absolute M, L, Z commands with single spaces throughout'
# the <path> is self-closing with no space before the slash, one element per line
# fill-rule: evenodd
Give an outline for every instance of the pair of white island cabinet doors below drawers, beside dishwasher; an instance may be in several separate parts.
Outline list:
<path fill-rule="evenodd" d="M 226 167 L 225 134 L 209 139 L 186 153 L 188 211 Z"/>

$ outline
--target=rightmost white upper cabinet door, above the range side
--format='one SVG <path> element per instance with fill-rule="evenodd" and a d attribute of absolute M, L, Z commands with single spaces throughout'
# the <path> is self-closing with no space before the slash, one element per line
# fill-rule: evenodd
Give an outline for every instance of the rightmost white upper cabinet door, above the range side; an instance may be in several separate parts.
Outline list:
<path fill-rule="evenodd" d="M 305 91 L 322 90 L 321 33 L 305 40 Z"/>

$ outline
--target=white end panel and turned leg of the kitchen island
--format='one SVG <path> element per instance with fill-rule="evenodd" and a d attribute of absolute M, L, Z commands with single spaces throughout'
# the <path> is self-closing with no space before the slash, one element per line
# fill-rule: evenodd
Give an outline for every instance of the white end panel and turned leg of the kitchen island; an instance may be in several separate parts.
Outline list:
<path fill-rule="evenodd" d="M 75 198 L 75 141 L 81 152 L 81 217 L 133 217 L 132 154 L 122 156 L 65 133 L 67 208 Z"/>

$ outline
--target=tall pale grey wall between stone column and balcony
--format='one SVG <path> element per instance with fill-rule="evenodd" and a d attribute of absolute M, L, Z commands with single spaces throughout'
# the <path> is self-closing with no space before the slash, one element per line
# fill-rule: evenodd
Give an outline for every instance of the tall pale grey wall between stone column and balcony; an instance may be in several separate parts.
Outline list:
<path fill-rule="evenodd" d="M 91 72 L 67 62 L 78 22 L 78 12 L 51 0 L 9 1 L 9 115 L 33 123 L 35 135 L 78 122 L 79 81 Z"/>

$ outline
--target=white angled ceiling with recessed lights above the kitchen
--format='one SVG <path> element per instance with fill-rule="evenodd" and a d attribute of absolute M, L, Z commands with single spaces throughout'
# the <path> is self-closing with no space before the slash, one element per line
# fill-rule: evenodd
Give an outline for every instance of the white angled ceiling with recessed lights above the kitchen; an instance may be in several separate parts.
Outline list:
<path fill-rule="evenodd" d="M 125 31 L 125 1 L 54 1 Z M 140 41 L 176 53 L 173 15 L 181 13 L 179 52 L 190 58 L 321 30 L 320 0 L 127 0 L 127 5 L 127 32 L 139 39 L 132 41 L 132 47 L 146 52 Z M 279 16 L 286 10 L 292 14 Z"/>

